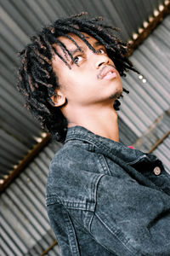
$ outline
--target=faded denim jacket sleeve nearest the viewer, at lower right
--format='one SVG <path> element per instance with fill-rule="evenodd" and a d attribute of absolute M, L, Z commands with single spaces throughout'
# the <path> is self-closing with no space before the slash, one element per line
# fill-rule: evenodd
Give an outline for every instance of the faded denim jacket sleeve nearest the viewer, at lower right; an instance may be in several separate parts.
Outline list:
<path fill-rule="evenodd" d="M 105 175 L 98 183 L 89 232 L 120 256 L 170 255 L 170 197 L 131 178 Z"/>

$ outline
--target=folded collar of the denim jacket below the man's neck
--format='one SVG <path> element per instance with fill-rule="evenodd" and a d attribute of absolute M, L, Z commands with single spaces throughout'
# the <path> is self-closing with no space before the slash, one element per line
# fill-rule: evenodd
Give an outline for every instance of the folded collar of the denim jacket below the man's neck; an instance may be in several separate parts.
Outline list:
<path fill-rule="evenodd" d="M 127 148 L 122 143 L 116 143 L 111 139 L 100 137 L 82 126 L 74 126 L 68 129 L 65 143 L 71 140 L 91 143 L 94 145 L 94 147 L 90 147 L 91 151 L 93 148 L 93 152 L 105 155 L 118 166 L 121 166 L 131 177 L 138 180 L 139 183 L 156 189 L 156 184 L 150 183 L 150 180 L 144 177 L 142 173 L 136 172 L 134 167 L 135 164 L 141 166 L 148 161 L 152 166 L 154 162 L 160 161 L 157 160 L 156 155 L 144 154 L 140 150 Z"/>

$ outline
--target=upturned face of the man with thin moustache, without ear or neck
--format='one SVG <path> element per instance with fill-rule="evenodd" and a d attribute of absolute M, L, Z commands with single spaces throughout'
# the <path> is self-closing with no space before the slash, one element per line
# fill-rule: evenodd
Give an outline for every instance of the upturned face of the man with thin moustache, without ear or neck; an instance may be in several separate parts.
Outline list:
<path fill-rule="evenodd" d="M 54 55 L 53 69 L 59 79 L 59 90 L 67 100 L 67 106 L 80 108 L 95 104 L 112 104 L 116 97 L 122 94 L 120 75 L 113 61 L 106 54 L 105 47 L 87 33 L 83 34 L 97 53 L 71 33 L 69 35 L 82 50 L 78 50 L 68 38 L 61 36 L 58 39 L 70 50 L 74 62 L 69 55 L 65 56 L 59 45 L 54 45 L 59 55 L 71 67 L 71 69 L 67 67 L 59 56 Z"/>

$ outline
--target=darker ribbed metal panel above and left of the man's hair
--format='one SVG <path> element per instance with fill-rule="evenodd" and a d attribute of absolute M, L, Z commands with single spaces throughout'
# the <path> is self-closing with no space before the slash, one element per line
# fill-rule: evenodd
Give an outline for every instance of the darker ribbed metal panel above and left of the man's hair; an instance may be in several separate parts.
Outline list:
<path fill-rule="evenodd" d="M 59 17 L 80 13 L 83 10 L 88 11 L 90 16 L 103 15 L 106 22 L 120 27 L 122 38 L 128 40 L 132 37 L 133 32 L 138 32 L 143 21 L 147 20 L 149 15 L 153 15 L 153 11 L 158 9 L 160 3 L 164 3 L 164 1 L 0 1 L 0 157 L 2 163 L 0 178 L 8 175 L 14 165 L 37 143 L 36 138 L 41 137 L 39 125 L 24 109 L 24 101 L 15 90 L 16 70 L 19 65 L 16 53 L 29 42 L 29 36 L 39 31 L 43 25 Z M 126 124 L 127 117 L 124 119 Z M 141 127 L 137 127 L 139 131 L 133 127 L 131 129 L 135 132 L 135 136 L 139 136 L 144 128 L 143 124 Z M 126 134 L 127 132 L 125 132 Z M 131 135 L 132 132 L 129 133 L 129 137 Z"/>

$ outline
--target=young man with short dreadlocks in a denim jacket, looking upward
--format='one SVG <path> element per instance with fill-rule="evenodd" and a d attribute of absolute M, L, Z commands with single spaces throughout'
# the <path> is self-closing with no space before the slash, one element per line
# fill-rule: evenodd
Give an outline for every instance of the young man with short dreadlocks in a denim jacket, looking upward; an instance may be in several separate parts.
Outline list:
<path fill-rule="evenodd" d="M 100 19 L 56 20 L 26 46 L 18 88 L 64 146 L 48 173 L 47 209 L 61 254 L 170 255 L 170 179 L 153 154 L 119 143 L 127 44 Z"/>

